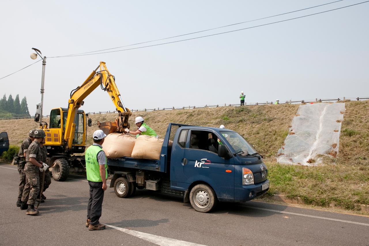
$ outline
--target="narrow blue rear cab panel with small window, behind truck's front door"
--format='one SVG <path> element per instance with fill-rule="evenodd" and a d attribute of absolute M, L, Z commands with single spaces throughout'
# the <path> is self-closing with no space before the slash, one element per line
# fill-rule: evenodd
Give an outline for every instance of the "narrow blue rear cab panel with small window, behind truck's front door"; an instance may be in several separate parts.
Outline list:
<path fill-rule="evenodd" d="M 186 175 L 183 174 L 183 166 L 187 164 L 183 157 L 188 132 L 189 129 L 183 129 L 177 135 L 178 137 L 173 139 L 172 155 L 170 157 L 170 180 L 172 181 L 170 185 L 172 188 L 186 187 L 187 189 L 191 183 Z"/>

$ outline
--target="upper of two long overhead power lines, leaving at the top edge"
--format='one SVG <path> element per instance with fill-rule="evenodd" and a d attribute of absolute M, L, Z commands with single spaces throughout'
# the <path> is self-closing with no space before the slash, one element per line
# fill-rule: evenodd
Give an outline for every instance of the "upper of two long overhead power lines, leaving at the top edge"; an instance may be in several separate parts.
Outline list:
<path fill-rule="evenodd" d="M 68 56 L 73 56 L 73 55 L 82 55 L 82 54 L 88 54 L 88 53 L 93 53 L 93 52 L 106 51 L 106 50 L 110 50 L 110 49 L 118 49 L 118 48 L 128 47 L 128 46 L 137 45 L 137 44 L 146 44 L 146 43 L 149 43 L 149 42 L 155 42 L 155 41 L 160 41 L 160 40 L 166 40 L 166 39 L 169 39 L 169 38 L 176 38 L 176 37 L 181 37 L 181 36 L 185 36 L 185 35 L 201 33 L 201 32 L 205 32 L 205 31 L 211 31 L 211 30 L 215 30 L 215 29 L 219 29 L 219 28 L 223 28 L 223 27 L 230 27 L 232 25 L 239 25 L 239 24 L 248 23 L 248 22 L 251 22 L 251 21 L 257 21 L 257 20 L 263 20 L 263 19 L 266 19 L 266 18 L 282 16 L 284 14 L 290 14 L 290 13 L 294 13 L 294 12 L 298 12 L 298 11 L 302 11 L 302 10 L 307 10 L 307 9 L 310 9 L 310 8 L 316 8 L 316 7 L 324 6 L 324 5 L 327 5 L 327 4 L 337 3 L 337 2 L 340 2 L 340 1 L 343 1 L 343 0 L 338 0 L 338 1 L 330 2 L 330 3 L 320 4 L 320 5 L 313 6 L 313 7 L 303 8 L 303 9 L 300 9 L 300 10 L 294 10 L 294 11 L 290 11 L 290 12 L 283 13 L 283 14 L 276 14 L 274 16 L 263 17 L 263 18 L 259 18 L 259 19 L 255 19 L 255 20 L 243 21 L 243 22 L 234 23 L 234 24 L 230 24 L 230 25 L 224 25 L 224 26 L 221 26 L 221 27 L 215 27 L 215 28 L 202 30 L 202 31 L 197 31 L 197 32 L 193 32 L 193 33 L 187 33 L 187 34 L 177 35 L 177 36 L 168 37 L 168 38 L 161 38 L 161 39 L 156 39 L 156 40 L 151 40 L 151 41 L 146 41 L 146 42 L 140 42 L 140 43 L 136 43 L 136 44 L 129 44 L 129 45 L 124 45 L 124 46 L 115 47 L 115 48 L 100 49 L 100 50 L 96 50 L 96 51 L 89 51 L 89 52 L 83 52 L 83 53 L 63 55 L 63 56 L 58 56 L 58 57 L 68 57 Z"/>

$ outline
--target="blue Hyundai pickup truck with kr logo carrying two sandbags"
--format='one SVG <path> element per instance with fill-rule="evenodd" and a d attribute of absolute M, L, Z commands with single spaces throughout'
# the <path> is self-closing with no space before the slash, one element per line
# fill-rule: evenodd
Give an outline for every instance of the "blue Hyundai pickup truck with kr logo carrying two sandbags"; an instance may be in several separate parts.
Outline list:
<path fill-rule="evenodd" d="M 170 123 L 159 160 L 107 160 L 110 187 L 126 198 L 138 189 L 180 195 L 199 212 L 218 201 L 249 201 L 269 189 L 263 158 L 235 131 Z"/>

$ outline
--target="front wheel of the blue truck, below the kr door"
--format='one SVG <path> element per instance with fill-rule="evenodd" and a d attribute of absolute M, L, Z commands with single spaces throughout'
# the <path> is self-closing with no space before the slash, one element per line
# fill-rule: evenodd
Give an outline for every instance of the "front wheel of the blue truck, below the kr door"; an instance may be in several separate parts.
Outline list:
<path fill-rule="evenodd" d="M 191 189 L 190 203 L 197 212 L 207 213 L 217 205 L 217 196 L 210 186 L 198 184 Z"/>

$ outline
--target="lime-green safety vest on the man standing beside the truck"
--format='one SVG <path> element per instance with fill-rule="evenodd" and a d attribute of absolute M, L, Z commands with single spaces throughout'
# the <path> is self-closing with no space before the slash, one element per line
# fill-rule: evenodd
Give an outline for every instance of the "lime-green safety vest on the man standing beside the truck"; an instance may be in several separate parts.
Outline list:
<path fill-rule="evenodd" d="M 85 154 L 85 161 L 86 161 L 86 174 L 87 174 L 87 180 L 92 182 L 102 182 L 100 175 L 100 165 L 97 162 L 97 154 L 102 149 L 99 146 L 91 145 L 87 148 L 86 154 Z M 106 159 L 106 157 L 105 157 Z M 106 160 L 105 160 L 106 163 Z M 108 170 L 107 165 L 105 164 L 105 179 L 108 178 Z"/>

